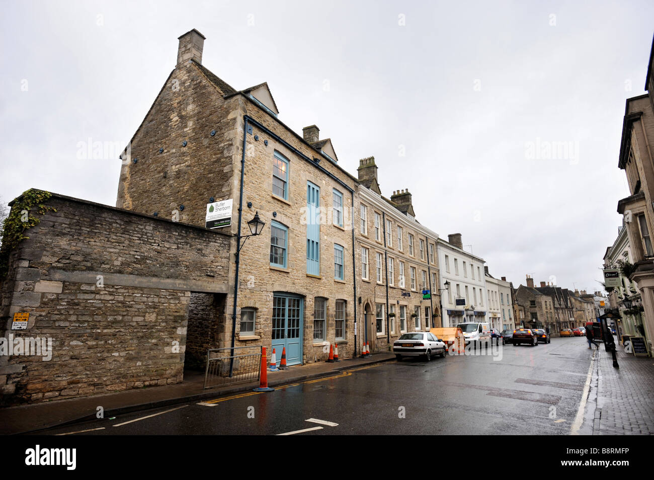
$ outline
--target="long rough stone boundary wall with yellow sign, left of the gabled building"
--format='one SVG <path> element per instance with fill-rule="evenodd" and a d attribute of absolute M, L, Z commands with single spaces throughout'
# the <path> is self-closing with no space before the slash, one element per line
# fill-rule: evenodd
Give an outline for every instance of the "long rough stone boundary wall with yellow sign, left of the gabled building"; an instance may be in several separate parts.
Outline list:
<path fill-rule="evenodd" d="M 3 402 L 182 381 L 190 292 L 226 294 L 230 237 L 58 195 L 47 205 L 0 285 L 0 337 L 45 339 L 51 358 L 3 352 Z M 17 312 L 27 330 L 10 330 Z"/>

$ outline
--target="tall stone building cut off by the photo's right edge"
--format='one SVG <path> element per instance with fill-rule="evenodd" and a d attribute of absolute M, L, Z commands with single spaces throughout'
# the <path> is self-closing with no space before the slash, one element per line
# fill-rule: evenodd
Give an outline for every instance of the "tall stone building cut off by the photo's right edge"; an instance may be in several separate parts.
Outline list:
<path fill-rule="evenodd" d="M 644 307 L 643 334 L 648 349 L 654 338 L 654 42 L 645 75 L 647 94 L 627 99 L 623 120 L 618 167 L 625 171 L 630 196 L 618 201 L 634 257 L 629 276 L 638 286 Z"/>

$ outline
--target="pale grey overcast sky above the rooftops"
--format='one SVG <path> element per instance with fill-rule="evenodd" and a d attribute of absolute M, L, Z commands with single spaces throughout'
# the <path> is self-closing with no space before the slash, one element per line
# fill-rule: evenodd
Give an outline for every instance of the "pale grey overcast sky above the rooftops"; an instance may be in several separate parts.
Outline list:
<path fill-rule="evenodd" d="M 267 81 L 279 119 L 316 124 L 353 175 L 375 156 L 382 194 L 408 188 L 494 277 L 599 290 L 653 20 L 651 1 L 5 1 L 0 196 L 115 205 L 120 160 L 80 142 L 126 145 L 196 28 L 203 65 Z"/>

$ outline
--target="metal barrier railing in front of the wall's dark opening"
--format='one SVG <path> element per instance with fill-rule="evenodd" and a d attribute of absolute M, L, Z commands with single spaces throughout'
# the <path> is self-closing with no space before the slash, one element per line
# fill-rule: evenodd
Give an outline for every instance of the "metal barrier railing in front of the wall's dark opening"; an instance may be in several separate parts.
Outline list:
<path fill-rule="evenodd" d="M 258 381 L 263 345 L 207 350 L 204 388 Z M 230 375 L 231 369 L 231 375 Z"/>

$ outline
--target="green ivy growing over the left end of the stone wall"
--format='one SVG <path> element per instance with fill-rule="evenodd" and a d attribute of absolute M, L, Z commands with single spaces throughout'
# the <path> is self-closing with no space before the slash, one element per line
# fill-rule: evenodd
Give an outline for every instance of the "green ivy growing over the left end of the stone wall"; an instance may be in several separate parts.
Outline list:
<path fill-rule="evenodd" d="M 5 279 L 9 271 L 9 255 L 23 240 L 29 238 L 24 235 L 28 228 L 35 227 L 41 222 L 42 216 L 48 211 L 56 212 L 54 207 L 48 207 L 45 202 L 52 194 L 44 190 L 30 188 L 14 201 L 9 216 L 2 224 L 3 236 L 0 247 L 0 279 Z"/>

